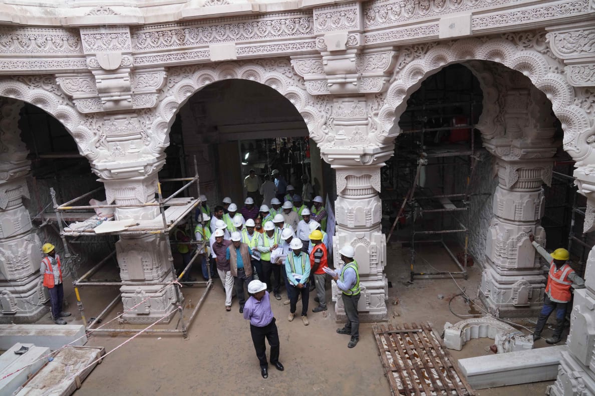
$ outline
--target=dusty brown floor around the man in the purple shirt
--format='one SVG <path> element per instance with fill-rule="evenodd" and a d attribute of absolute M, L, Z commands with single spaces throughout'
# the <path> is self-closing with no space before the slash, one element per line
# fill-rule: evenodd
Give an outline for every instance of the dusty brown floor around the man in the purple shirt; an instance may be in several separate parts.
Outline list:
<path fill-rule="evenodd" d="M 389 264 L 387 278 L 392 283 L 389 289 L 389 321 L 393 324 L 430 322 L 441 332 L 445 322 L 455 323 L 459 318 L 449 311 L 449 300 L 460 292 L 451 278 L 436 280 L 415 280 L 409 284 L 408 249 L 395 246 L 387 254 Z M 453 271 L 456 268 L 447 261 L 446 252 L 436 247 L 419 252 L 435 267 Z M 94 280 L 117 278 L 117 268 L 101 271 L 93 275 Z M 419 270 L 430 270 L 419 267 Z M 80 270 L 80 273 L 84 269 Z M 199 277 L 198 271 L 193 273 Z M 471 267 L 468 280 L 457 279 L 471 298 L 477 296 L 477 285 L 481 271 Z M 224 292 L 221 282 L 215 279 L 213 289 L 190 327 L 189 336 L 181 335 L 140 335 L 125 346 L 114 351 L 98 365 L 83 382 L 76 395 L 389 395 L 389 383 L 378 357 L 378 348 L 372 335 L 372 325 L 362 324 L 361 338 L 354 349 L 347 349 L 349 337 L 336 334 L 337 325 L 334 311 L 327 315 L 312 313 L 314 293 L 309 303 L 310 325 L 305 327 L 299 318 L 287 321 L 289 306 L 282 301 L 272 300 L 273 312 L 281 340 L 280 361 L 285 366 L 279 372 L 270 366 L 268 379 L 262 379 L 258 360 L 250 338 L 249 323 L 238 312 L 237 300 L 233 309 L 224 309 Z M 184 288 L 186 303 L 194 306 L 204 289 Z M 76 311 L 74 293 L 67 288 L 66 294 L 71 304 L 73 317 L 69 323 L 81 323 Z M 116 287 L 84 287 L 81 290 L 87 319 L 97 315 L 117 295 Z M 330 294 L 327 290 L 327 294 Z M 443 296 L 439 298 L 439 294 Z M 284 299 L 284 292 L 283 292 Z M 394 304 L 395 300 L 398 302 Z M 331 305 L 332 306 L 332 305 Z M 300 303 L 297 309 L 301 308 Z M 454 312 L 469 315 L 478 311 L 469 307 L 461 297 L 452 302 Z M 121 311 L 121 305 L 109 313 L 108 321 Z M 187 311 L 185 311 L 187 312 Z M 189 315 L 189 313 L 186 313 Z M 185 316 L 186 316 L 185 315 Z M 533 318 L 535 319 L 535 318 Z M 48 315 L 41 321 L 49 322 Z M 527 327 L 533 326 L 526 320 L 518 321 Z M 170 325 L 173 328 L 177 316 Z M 117 321 L 110 328 L 125 328 Z M 139 328 L 138 326 L 136 326 Z M 131 327 L 128 327 L 131 328 Z M 544 335 L 549 335 L 545 330 Z M 107 351 L 125 341 L 132 334 L 92 335 L 87 345 L 104 346 Z M 493 340 L 483 338 L 472 340 L 462 351 L 450 351 L 455 359 L 491 354 L 487 348 Z M 536 347 L 545 347 L 537 341 Z M 476 391 L 481 396 L 543 395 L 547 385 L 553 382 L 516 385 Z"/>

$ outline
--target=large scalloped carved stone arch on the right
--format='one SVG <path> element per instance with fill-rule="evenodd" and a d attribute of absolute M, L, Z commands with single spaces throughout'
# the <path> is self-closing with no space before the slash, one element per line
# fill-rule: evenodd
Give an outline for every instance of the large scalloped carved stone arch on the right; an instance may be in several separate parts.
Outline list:
<path fill-rule="evenodd" d="M 587 112 L 574 104 L 575 89 L 558 72 L 564 69 L 564 65 L 537 49 L 527 49 L 501 38 L 461 39 L 416 52 L 411 61 L 396 72 L 387 90 L 384 106 L 378 114 L 383 128 L 380 140 L 391 144 L 399 134 L 398 122 L 405 111 L 407 99 L 425 78 L 447 65 L 471 60 L 496 62 L 528 77 L 552 102 L 552 109 L 562 122 L 564 149 L 577 166 L 595 163 L 595 153 L 588 141 L 595 134 L 595 126 L 591 125 Z"/>

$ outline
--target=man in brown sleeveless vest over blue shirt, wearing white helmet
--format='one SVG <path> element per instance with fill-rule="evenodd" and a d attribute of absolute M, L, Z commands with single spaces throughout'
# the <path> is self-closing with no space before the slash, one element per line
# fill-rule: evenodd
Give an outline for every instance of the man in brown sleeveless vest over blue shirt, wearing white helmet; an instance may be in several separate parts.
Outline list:
<path fill-rule="evenodd" d="M 248 290 L 248 283 L 252 280 L 252 249 L 242 243 L 239 232 L 231 233 L 231 246 L 227 247 L 226 258 L 229 260 L 231 275 L 233 276 L 236 296 L 240 303 L 240 313 L 244 312 L 244 287 Z"/>

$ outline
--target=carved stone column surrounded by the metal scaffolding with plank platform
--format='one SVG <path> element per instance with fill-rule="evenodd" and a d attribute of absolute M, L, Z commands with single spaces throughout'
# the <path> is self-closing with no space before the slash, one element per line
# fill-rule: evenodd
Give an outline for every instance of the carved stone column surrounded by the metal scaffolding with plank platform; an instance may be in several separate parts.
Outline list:
<path fill-rule="evenodd" d="M 165 163 L 165 156 L 157 156 L 149 150 L 145 144 L 146 136 L 136 116 L 106 116 L 102 131 L 104 133 L 99 145 L 104 150 L 93 161 L 92 169 L 105 185 L 108 204 L 140 205 L 155 202 L 157 172 Z M 155 206 L 117 208 L 115 218 L 158 218 L 161 221 L 159 208 Z M 162 284 L 174 279 L 168 244 L 168 237 L 163 234 L 121 236 L 116 243 L 120 277 L 126 283 L 120 288 L 124 311 L 149 297 L 145 303 L 125 313 L 125 321 L 150 323 L 175 311 L 174 286 L 161 290 Z M 147 282 L 157 284 L 137 284 Z M 168 320 L 169 318 L 163 322 Z"/>

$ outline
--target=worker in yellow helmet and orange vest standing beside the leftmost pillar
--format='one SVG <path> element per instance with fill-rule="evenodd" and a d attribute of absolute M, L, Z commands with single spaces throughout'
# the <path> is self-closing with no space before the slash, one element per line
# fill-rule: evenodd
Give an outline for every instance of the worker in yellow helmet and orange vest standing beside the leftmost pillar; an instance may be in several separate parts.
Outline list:
<path fill-rule="evenodd" d="M 62 312 L 62 303 L 64 302 L 64 286 L 62 285 L 62 268 L 60 256 L 56 254 L 56 249 L 51 243 L 44 243 L 42 252 L 46 256 L 41 261 L 39 272 L 43 277 L 43 286 L 48 288 L 49 301 L 52 309 L 52 319 L 57 325 L 65 325 L 70 312 Z"/>

